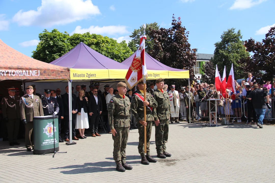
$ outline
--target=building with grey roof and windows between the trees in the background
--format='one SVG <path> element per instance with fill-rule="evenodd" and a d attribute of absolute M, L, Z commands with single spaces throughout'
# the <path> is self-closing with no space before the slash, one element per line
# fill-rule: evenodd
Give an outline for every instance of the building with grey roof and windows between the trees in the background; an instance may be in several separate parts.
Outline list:
<path fill-rule="evenodd" d="M 207 64 L 214 54 L 199 54 L 196 49 L 196 64 L 193 66 L 194 74 L 196 78 L 202 78 L 202 64 Z"/>

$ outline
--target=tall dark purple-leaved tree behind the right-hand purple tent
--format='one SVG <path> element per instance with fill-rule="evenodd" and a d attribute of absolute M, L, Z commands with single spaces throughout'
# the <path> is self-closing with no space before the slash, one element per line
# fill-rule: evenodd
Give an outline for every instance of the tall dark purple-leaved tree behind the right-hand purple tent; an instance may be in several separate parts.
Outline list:
<path fill-rule="evenodd" d="M 196 55 L 188 42 L 186 28 L 182 26 L 180 17 L 172 17 L 172 27 L 169 29 L 150 29 L 149 35 L 153 38 L 153 49 L 149 54 L 161 63 L 176 69 L 189 70 L 191 81 L 195 78 L 193 66 L 196 64 Z M 173 80 L 171 83 L 178 86 L 186 85 L 186 80 Z"/>

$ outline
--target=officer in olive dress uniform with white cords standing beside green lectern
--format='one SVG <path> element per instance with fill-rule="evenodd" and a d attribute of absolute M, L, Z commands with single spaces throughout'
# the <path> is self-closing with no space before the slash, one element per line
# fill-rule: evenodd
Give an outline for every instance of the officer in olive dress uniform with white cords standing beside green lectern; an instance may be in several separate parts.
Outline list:
<path fill-rule="evenodd" d="M 20 98 L 20 116 L 21 122 L 25 125 L 25 144 L 27 151 L 32 151 L 33 142 L 31 135 L 33 129 L 33 117 L 44 116 L 41 99 L 34 95 L 32 86 L 26 88 L 27 94 Z"/>

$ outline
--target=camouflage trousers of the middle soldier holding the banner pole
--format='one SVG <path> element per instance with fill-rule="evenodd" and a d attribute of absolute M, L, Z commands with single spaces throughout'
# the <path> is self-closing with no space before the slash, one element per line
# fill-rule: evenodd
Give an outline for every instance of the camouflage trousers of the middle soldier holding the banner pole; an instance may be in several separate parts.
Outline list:
<path fill-rule="evenodd" d="M 146 121 L 146 155 L 150 156 L 150 138 L 152 133 L 152 121 Z M 139 133 L 138 152 L 141 157 L 145 157 L 144 153 L 144 126 L 139 122 L 137 123 Z"/>

